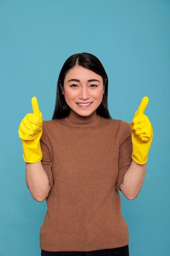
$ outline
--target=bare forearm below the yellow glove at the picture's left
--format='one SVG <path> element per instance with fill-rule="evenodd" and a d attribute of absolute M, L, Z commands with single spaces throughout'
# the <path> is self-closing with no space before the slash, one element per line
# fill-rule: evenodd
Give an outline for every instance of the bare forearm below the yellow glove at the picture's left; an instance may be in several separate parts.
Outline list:
<path fill-rule="evenodd" d="M 26 184 L 32 197 L 42 202 L 47 198 L 50 191 L 49 178 L 44 171 L 41 161 L 37 163 L 26 163 Z"/>

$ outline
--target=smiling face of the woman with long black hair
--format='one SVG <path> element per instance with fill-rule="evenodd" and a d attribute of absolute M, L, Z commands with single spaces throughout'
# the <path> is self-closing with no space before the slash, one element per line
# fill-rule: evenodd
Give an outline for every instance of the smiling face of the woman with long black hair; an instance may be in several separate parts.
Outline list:
<path fill-rule="evenodd" d="M 64 79 L 64 97 L 67 105 L 78 115 L 88 117 L 103 99 L 102 76 L 82 66 L 68 71 Z"/>

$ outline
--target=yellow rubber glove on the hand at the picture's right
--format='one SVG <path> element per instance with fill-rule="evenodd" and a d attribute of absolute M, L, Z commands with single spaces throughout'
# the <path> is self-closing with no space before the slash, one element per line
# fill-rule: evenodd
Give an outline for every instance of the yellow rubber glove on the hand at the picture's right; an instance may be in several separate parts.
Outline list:
<path fill-rule="evenodd" d="M 130 123 L 133 148 L 132 159 L 137 164 L 145 164 L 148 160 L 148 152 L 153 137 L 152 125 L 148 117 L 144 115 L 148 101 L 148 97 L 144 97 L 141 100 L 139 108 L 135 112 L 135 116 Z"/>

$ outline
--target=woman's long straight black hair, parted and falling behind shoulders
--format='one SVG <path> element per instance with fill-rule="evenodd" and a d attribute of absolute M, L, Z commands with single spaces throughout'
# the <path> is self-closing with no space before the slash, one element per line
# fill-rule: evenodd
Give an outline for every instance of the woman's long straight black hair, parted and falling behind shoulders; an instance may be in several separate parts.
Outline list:
<path fill-rule="evenodd" d="M 59 119 L 67 117 L 70 113 L 70 107 L 67 105 L 64 95 L 62 94 L 62 88 L 64 88 L 64 79 L 66 74 L 68 73 L 71 68 L 75 67 L 76 65 L 82 66 L 95 72 L 96 74 L 102 76 L 103 84 L 104 84 L 104 94 L 102 102 L 100 103 L 99 107 L 96 110 L 97 115 L 105 118 L 111 118 L 108 112 L 108 76 L 102 63 L 99 61 L 97 57 L 93 54 L 89 53 L 79 53 L 70 56 L 64 63 L 60 75 L 57 82 L 57 95 L 55 101 L 55 109 L 53 113 L 52 119 Z M 60 87 L 61 85 L 61 87 Z"/>

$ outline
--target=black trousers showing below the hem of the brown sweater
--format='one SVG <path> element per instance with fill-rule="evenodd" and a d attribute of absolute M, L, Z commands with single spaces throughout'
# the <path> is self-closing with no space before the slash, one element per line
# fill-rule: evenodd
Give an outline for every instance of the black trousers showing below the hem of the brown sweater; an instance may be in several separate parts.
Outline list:
<path fill-rule="evenodd" d="M 126 245 L 124 247 L 91 252 L 46 252 L 41 250 L 41 256 L 129 256 L 129 248 Z"/>

